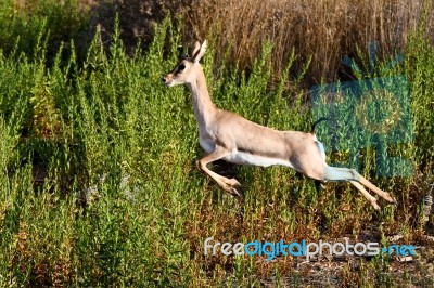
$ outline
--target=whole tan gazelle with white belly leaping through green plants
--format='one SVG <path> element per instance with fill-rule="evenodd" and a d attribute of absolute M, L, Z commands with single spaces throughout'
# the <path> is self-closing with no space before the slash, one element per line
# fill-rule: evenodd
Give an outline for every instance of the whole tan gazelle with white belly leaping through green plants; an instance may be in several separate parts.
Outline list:
<path fill-rule="evenodd" d="M 209 170 L 207 165 L 218 159 L 238 165 L 268 167 L 281 165 L 322 181 L 347 181 L 380 209 L 375 197 L 363 187 L 368 187 L 390 202 L 396 202 L 356 170 L 330 167 L 326 162 L 322 143 L 315 133 L 279 131 L 259 126 L 227 110 L 217 108 L 206 87 L 206 79 L 199 61 L 205 54 L 206 40 L 196 42 L 192 56 L 182 58 L 165 77 L 167 87 L 187 84 L 193 96 L 194 115 L 199 125 L 200 145 L 206 152 L 196 165 L 200 170 L 213 178 L 226 192 L 240 196 L 241 184 Z"/>

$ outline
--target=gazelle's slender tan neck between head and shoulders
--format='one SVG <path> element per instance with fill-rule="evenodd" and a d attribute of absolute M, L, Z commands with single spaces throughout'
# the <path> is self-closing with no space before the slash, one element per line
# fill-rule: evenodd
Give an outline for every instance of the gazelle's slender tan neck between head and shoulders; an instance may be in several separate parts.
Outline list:
<path fill-rule="evenodd" d="M 199 126 L 207 126 L 214 118 L 216 106 L 209 97 L 205 75 L 201 67 L 197 69 L 195 81 L 188 83 L 193 96 L 194 115 Z"/>

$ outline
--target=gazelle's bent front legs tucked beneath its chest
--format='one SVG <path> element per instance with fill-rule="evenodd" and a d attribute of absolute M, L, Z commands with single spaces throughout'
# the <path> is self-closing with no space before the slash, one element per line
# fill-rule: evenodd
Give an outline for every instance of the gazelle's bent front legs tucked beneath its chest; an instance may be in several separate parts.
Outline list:
<path fill-rule="evenodd" d="M 241 188 L 241 184 L 235 179 L 228 179 L 226 176 L 219 175 L 216 172 L 209 170 L 206 166 L 218 159 L 221 159 L 230 154 L 229 150 L 221 146 L 217 146 L 214 152 L 201 158 L 196 165 L 197 168 L 204 173 L 208 174 L 217 184 L 231 195 L 241 197 L 237 188 Z"/>

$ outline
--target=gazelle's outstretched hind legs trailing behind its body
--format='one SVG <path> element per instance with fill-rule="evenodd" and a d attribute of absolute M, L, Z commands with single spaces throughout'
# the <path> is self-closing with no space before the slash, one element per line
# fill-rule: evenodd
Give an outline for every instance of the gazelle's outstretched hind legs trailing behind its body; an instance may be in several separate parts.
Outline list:
<path fill-rule="evenodd" d="M 375 194 L 378 194 L 380 197 L 384 198 L 385 200 L 387 200 L 390 202 L 396 202 L 396 200 L 387 192 L 384 192 L 384 191 L 380 189 L 379 187 L 376 187 L 374 184 L 369 182 L 366 178 L 361 176 L 354 169 L 337 168 L 337 167 L 328 166 L 326 168 L 326 171 L 324 171 L 324 180 L 328 180 L 328 181 L 348 181 L 353 185 L 355 185 L 356 188 L 358 191 L 360 191 L 360 193 L 365 197 L 367 197 L 367 194 L 369 195 L 369 193 L 361 186 L 361 185 L 363 185 L 363 186 L 368 187 L 369 189 L 371 189 L 372 192 L 374 192 Z M 360 188 L 362 188 L 362 189 L 360 189 Z M 370 198 L 367 197 L 367 199 L 372 204 Z M 374 205 L 372 204 L 372 206 L 374 206 Z"/>

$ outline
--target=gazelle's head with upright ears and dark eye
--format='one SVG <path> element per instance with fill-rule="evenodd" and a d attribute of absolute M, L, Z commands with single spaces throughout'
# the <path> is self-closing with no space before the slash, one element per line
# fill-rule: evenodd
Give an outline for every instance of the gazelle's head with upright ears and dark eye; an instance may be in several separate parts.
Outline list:
<path fill-rule="evenodd" d="M 191 57 L 183 57 L 178 65 L 162 78 L 167 87 L 177 84 L 188 84 L 196 79 L 196 71 L 200 68 L 199 61 L 205 54 L 206 40 L 202 43 L 196 42 Z"/>

